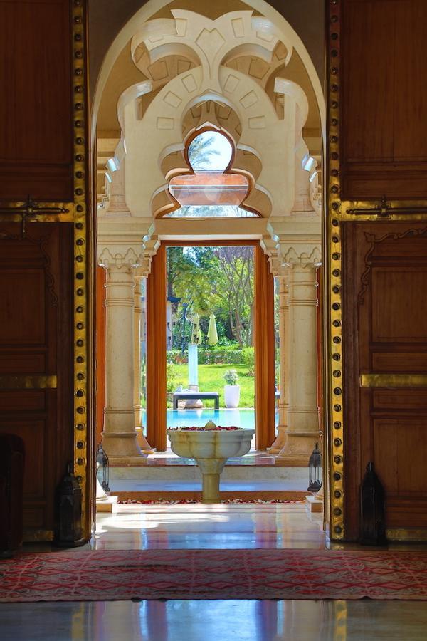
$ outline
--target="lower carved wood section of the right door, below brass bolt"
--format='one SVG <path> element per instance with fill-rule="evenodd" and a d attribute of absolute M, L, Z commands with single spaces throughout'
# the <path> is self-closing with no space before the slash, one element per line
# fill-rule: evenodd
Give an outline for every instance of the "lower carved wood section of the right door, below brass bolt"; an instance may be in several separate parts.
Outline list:
<path fill-rule="evenodd" d="M 386 489 L 386 526 L 422 528 L 427 522 L 427 382 L 420 387 L 411 375 L 426 373 L 427 228 L 347 222 L 343 254 L 344 323 L 357 328 L 357 340 L 344 333 L 346 359 L 354 367 L 352 377 L 344 377 L 352 433 L 347 457 L 349 463 L 358 461 L 347 484 L 347 507 L 354 513 L 364 469 L 373 461 Z M 361 387 L 361 375 L 383 378 L 371 383 L 375 387 Z M 356 519 L 352 526 L 357 528 Z"/>

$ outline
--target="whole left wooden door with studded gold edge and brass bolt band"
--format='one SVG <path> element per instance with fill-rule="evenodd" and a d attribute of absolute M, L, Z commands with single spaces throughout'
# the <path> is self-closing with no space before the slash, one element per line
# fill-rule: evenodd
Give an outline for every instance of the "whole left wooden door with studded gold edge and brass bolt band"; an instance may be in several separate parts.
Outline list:
<path fill-rule="evenodd" d="M 42 540 L 68 461 L 90 537 L 85 6 L 0 0 L 0 429 L 24 439 L 26 538 Z"/>

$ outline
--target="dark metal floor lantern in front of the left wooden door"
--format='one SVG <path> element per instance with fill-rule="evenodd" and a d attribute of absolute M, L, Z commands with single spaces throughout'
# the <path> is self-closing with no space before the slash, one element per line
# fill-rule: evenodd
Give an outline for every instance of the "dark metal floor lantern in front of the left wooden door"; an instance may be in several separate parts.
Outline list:
<path fill-rule="evenodd" d="M 55 545 L 61 548 L 83 546 L 82 489 L 73 474 L 69 462 L 67 473 L 56 490 L 56 536 Z"/>

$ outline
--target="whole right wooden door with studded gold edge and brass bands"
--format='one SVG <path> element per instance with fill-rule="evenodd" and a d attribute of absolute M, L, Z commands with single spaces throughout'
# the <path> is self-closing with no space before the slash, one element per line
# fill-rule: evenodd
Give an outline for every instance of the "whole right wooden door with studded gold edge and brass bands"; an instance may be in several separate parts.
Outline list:
<path fill-rule="evenodd" d="M 372 461 L 389 538 L 427 538 L 424 0 L 328 0 L 332 538 L 357 539 Z"/>

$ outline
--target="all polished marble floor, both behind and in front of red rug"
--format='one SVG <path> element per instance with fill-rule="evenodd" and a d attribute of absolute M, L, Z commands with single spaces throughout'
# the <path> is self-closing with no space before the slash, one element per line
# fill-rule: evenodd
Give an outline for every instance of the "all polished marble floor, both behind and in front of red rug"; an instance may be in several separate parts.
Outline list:
<path fill-rule="evenodd" d="M 322 515 L 310 514 L 303 504 L 176 504 L 125 505 L 117 514 L 99 514 L 92 541 L 83 549 L 291 547 L 342 546 L 325 535 Z M 426 549 L 411 546 L 416 548 Z M 49 548 L 39 544 L 26 549 Z M 0 639 L 426 641 L 427 606 L 365 599 L 0 604 Z"/>

